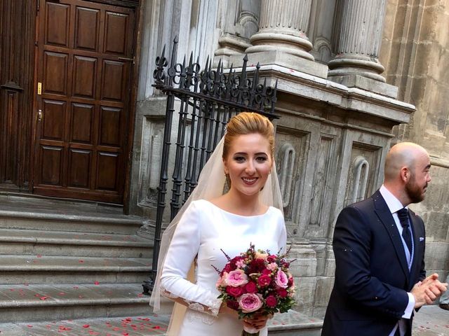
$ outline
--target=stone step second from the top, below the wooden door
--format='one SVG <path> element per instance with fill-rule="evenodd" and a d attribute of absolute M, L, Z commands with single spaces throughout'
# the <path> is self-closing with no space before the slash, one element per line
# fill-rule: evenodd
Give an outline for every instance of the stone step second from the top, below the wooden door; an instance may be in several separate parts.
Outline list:
<path fill-rule="evenodd" d="M 152 246 L 136 235 L 0 228 L 0 254 L 150 258 Z"/>

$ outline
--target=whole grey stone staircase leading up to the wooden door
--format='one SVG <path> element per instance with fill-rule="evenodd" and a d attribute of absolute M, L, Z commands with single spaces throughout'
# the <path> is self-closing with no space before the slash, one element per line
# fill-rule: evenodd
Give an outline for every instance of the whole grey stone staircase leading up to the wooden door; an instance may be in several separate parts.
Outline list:
<path fill-rule="evenodd" d="M 0 323 L 149 314 L 142 218 L 92 207 L 0 196 Z"/>

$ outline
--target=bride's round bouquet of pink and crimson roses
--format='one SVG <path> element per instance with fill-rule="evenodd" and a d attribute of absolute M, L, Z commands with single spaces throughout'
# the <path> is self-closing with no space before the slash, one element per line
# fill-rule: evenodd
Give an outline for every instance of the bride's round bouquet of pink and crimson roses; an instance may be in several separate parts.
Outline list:
<path fill-rule="evenodd" d="M 223 253 L 225 253 L 223 251 Z M 248 251 L 229 258 L 220 271 L 217 281 L 219 298 L 229 308 L 239 313 L 239 318 L 253 318 L 256 314 L 285 313 L 295 300 L 293 276 L 288 272 L 290 262 L 286 254 L 270 254 L 269 251 L 255 250 L 250 244 Z M 259 335 L 259 332 L 243 330 L 242 336 Z"/>

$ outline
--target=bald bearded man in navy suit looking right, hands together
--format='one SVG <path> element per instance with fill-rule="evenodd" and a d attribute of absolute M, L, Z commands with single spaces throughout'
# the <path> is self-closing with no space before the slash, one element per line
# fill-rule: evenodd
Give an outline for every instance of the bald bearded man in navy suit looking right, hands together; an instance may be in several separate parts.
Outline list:
<path fill-rule="evenodd" d="M 429 169 L 424 148 L 397 144 L 387 154 L 380 190 L 340 212 L 322 336 L 410 336 L 414 309 L 447 289 L 438 274 L 426 278 L 424 223 L 407 207 L 424 200 Z"/>

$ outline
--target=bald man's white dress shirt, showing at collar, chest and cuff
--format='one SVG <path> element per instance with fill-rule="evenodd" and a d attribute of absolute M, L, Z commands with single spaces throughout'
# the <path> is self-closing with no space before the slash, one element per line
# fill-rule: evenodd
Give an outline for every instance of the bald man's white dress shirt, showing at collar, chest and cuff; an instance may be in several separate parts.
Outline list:
<path fill-rule="evenodd" d="M 402 245 L 404 247 L 404 253 L 406 253 L 408 270 L 410 271 L 410 268 L 412 267 L 415 246 L 414 246 L 414 242 L 412 239 L 412 251 L 410 253 L 410 251 L 408 251 L 406 241 L 404 241 L 404 239 L 402 237 L 403 228 L 402 228 L 401 222 L 399 221 L 398 214 L 397 214 L 397 211 L 401 210 L 404 207 L 403 207 L 402 203 L 396 198 L 396 196 L 394 196 L 392 193 L 390 193 L 390 191 L 387 188 L 385 188 L 385 186 L 383 184 L 382 184 L 382 187 L 380 187 L 379 191 L 380 191 L 380 194 L 382 195 L 382 197 L 384 197 L 384 200 L 387 203 L 387 207 L 388 207 L 389 211 L 391 212 L 391 215 L 394 218 L 396 227 L 398 228 L 399 237 L 401 237 Z M 405 208 L 408 209 L 408 207 L 405 207 Z M 412 235 L 412 237 L 413 237 L 411 225 L 408 226 L 408 230 L 410 230 L 410 235 Z M 404 314 L 402 316 L 403 319 L 404 318 L 410 319 L 410 317 L 412 316 L 412 313 L 413 313 L 413 308 L 415 307 L 415 297 L 413 296 L 412 293 L 407 293 L 407 295 L 408 295 L 408 304 L 406 307 L 406 311 L 404 312 Z M 394 336 L 394 333 L 396 332 L 397 328 L 399 328 L 399 332 L 401 333 L 401 336 L 405 335 L 406 321 L 403 321 L 403 319 L 398 321 L 398 323 L 394 326 L 393 330 L 391 330 L 391 332 L 389 333 L 388 336 Z"/>

